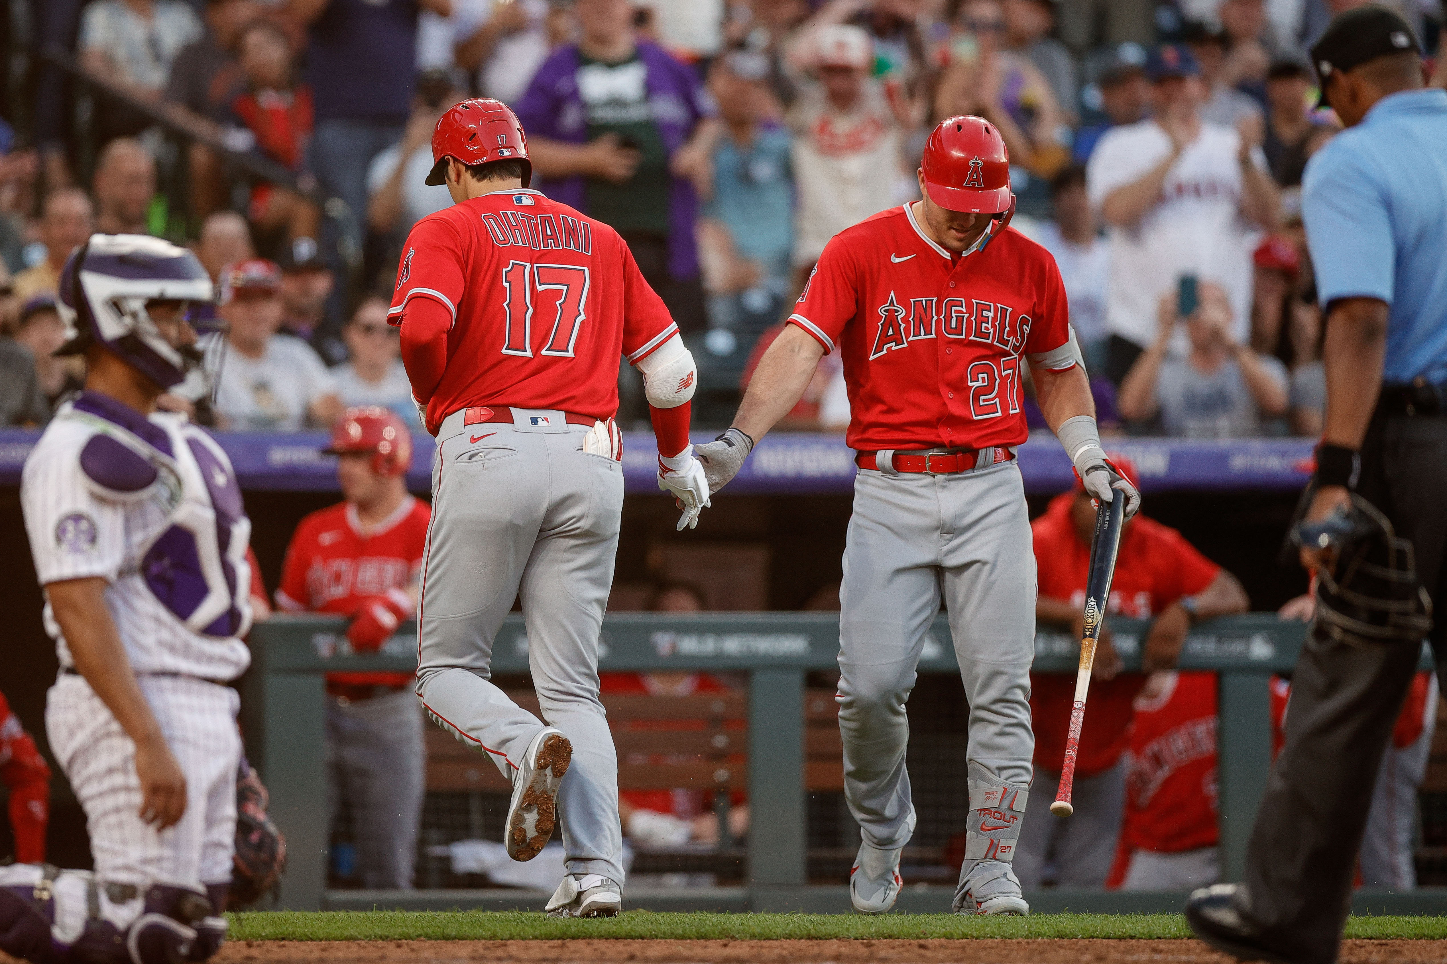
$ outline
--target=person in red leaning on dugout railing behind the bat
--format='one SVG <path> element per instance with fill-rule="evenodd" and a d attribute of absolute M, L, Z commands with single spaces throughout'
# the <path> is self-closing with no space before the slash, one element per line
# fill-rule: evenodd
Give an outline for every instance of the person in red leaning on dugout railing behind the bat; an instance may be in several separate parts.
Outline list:
<path fill-rule="evenodd" d="M 1136 467 L 1110 455 L 1133 484 Z M 1091 496 L 1074 491 L 1051 500 L 1030 523 L 1039 567 L 1036 620 L 1042 626 L 1082 633 L 1090 543 L 1095 529 Z M 1217 616 L 1244 613 L 1246 590 L 1230 572 L 1201 555 L 1168 526 L 1136 516 L 1126 523 L 1116 561 L 1108 611 L 1152 620 L 1142 652 L 1145 672 L 1169 669 L 1192 624 Z M 1098 887 L 1106 883 L 1120 837 L 1126 801 L 1126 733 L 1132 701 L 1146 684 L 1142 673 L 1121 673 L 1110 627 L 1101 630 L 1091 681 L 1090 717 L 1081 730 L 1075 772 L 1075 814 L 1053 817 L 1051 801 L 1061 780 L 1075 678 L 1030 673 L 1030 717 L 1035 728 L 1035 783 L 1026 804 L 1014 867 L 1023 887 L 1037 887 L 1053 861 L 1059 886 Z"/>

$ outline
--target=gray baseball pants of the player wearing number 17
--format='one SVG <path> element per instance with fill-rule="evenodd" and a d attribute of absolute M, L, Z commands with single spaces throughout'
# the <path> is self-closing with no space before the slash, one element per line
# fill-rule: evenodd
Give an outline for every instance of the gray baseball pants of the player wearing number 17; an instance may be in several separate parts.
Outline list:
<path fill-rule="evenodd" d="M 573 743 L 557 798 L 567 872 L 622 885 L 618 754 L 598 695 L 622 465 L 585 452 L 587 429 L 563 412 L 514 413 L 514 425 L 466 426 L 456 412 L 437 434 L 417 695 L 511 780 L 543 728 L 491 682 L 498 629 L 521 595 L 543 717 Z"/>

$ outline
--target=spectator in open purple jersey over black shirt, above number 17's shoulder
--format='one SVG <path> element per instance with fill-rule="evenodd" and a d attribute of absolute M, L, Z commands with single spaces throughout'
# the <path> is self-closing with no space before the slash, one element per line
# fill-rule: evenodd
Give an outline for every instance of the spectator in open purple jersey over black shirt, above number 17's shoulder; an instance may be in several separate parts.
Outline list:
<path fill-rule="evenodd" d="M 628 0 L 577 0 L 559 48 L 517 104 L 550 198 L 611 224 L 683 331 L 705 324 L 693 223 L 721 133 L 690 66 L 640 39 Z"/>

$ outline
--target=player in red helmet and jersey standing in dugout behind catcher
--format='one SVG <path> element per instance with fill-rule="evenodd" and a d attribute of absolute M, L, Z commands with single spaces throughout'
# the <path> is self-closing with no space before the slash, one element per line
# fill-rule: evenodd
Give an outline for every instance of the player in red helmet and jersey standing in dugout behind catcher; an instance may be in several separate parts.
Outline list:
<path fill-rule="evenodd" d="M 297 526 L 276 606 L 352 617 L 352 649 L 370 653 L 417 607 L 431 510 L 407 494 L 412 436 L 394 412 L 347 409 L 326 451 L 346 500 Z M 412 886 L 427 750 L 411 688 L 411 673 L 327 673 L 330 811 L 340 799 L 352 809 L 365 887 Z"/>

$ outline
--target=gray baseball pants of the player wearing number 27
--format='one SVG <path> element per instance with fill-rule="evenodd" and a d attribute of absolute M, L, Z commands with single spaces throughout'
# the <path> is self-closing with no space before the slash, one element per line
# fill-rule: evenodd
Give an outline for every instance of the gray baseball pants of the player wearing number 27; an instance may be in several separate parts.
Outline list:
<path fill-rule="evenodd" d="M 844 795 L 867 843 L 901 847 L 915 827 L 904 702 L 941 600 L 969 702 L 969 760 L 1001 780 L 1030 782 L 1035 595 L 1014 462 L 949 475 L 860 471 L 839 588 L 835 700 Z"/>

